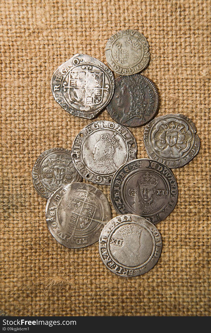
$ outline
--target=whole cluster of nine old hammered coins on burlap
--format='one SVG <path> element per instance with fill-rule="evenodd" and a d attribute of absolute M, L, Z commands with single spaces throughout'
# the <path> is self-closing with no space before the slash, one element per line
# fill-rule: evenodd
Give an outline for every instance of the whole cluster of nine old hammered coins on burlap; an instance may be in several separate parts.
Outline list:
<path fill-rule="evenodd" d="M 115 121 L 96 121 L 76 136 L 72 150 L 52 148 L 37 159 L 32 178 L 47 198 L 47 225 L 69 248 L 99 241 L 100 256 L 113 273 L 132 277 L 158 261 L 162 240 L 154 224 L 177 204 L 178 187 L 170 168 L 189 163 L 200 140 L 194 123 L 182 114 L 154 118 L 155 84 L 139 74 L 149 62 L 146 38 L 119 31 L 106 44 L 106 60 L 76 54 L 53 74 L 51 89 L 59 105 L 74 116 L 92 119 L 105 109 Z M 154 118 L 154 119 L 153 119 Z M 136 159 L 137 144 L 127 127 L 148 124 L 144 144 L 149 159 Z M 111 209 L 96 186 L 110 185 Z"/>

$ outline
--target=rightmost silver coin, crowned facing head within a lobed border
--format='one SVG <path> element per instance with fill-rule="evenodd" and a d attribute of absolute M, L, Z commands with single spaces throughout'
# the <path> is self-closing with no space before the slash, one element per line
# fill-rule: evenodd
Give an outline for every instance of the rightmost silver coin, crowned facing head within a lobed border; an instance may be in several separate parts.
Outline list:
<path fill-rule="evenodd" d="M 198 154 L 200 139 L 192 120 L 181 114 L 169 114 L 153 119 L 146 126 L 144 144 L 151 159 L 177 168 Z"/>

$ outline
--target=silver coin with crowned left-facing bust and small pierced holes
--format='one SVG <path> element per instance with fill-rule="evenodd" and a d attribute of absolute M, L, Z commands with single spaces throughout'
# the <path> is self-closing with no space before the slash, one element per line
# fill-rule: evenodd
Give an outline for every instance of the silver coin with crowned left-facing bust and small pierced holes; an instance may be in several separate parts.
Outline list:
<path fill-rule="evenodd" d="M 87 125 L 73 142 L 73 164 L 83 178 L 96 184 L 110 185 L 115 171 L 134 160 L 137 144 L 124 126 L 108 121 Z"/>

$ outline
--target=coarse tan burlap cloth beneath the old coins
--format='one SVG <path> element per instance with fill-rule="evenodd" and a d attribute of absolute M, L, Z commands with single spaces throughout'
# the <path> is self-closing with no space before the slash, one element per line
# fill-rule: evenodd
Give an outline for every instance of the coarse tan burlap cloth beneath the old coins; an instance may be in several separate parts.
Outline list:
<path fill-rule="evenodd" d="M 211 1 L 1 1 L 1 297 L 9 315 L 210 315 L 209 65 Z M 98 243 L 68 249 L 52 237 L 46 200 L 31 179 L 46 149 L 71 149 L 92 121 L 53 99 L 57 67 L 76 53 L 106 64 L 107 39 L 137 29 L 150 45 L 142 74 L 157 85 L 158 115 L 183 113 L 197 127 L 199 155 L 174 169 L 179 199 L 157 224 L 163 250 L 157 265 L 135 278 L 115 276 Z M 96 120 L 110 120 L 107 111 Z M 144 128 L 132 132 L 147 158 Z M 99 186 L 109 199 L 109 187 Z M 113 216 L 116 213 L 113 210 Z"/>

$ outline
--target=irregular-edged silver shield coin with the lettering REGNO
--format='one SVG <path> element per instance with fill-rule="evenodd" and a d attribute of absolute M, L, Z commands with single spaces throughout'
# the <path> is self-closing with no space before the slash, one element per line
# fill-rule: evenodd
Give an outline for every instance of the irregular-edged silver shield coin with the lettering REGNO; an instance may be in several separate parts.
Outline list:
<path fill-rule="evenodd" d="M 76 54 L 53 74 L 51 89 L 56 102 L 67 112 L 92 119 L 109 103 L 114 78 L 101 61 Z"/>

